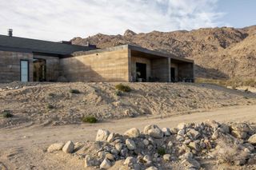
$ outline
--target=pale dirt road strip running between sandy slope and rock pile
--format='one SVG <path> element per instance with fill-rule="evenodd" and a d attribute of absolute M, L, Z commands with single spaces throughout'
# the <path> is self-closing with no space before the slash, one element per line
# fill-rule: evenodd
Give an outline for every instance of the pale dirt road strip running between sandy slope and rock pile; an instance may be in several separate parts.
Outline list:
<path fill-rule="evenodd" d="M 94 140 L 98 128 L 114 132 L 125 132 L 129 128 L 143 130 L 146 125 L 174 127 L 180 122 L 215 121 L 256 121 L 256 105 L 236 106 L 203 113 L 190 113 L 165 118 L 138 117 L 118 121 L 105 121 L 95 125 L 66 125 L 29 128 L 5 129 L 0 132 L 0 148 L 34 144 L 51 144 L 66 140 Z"/>

